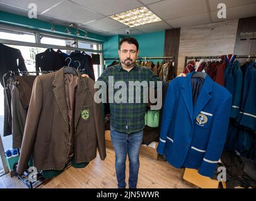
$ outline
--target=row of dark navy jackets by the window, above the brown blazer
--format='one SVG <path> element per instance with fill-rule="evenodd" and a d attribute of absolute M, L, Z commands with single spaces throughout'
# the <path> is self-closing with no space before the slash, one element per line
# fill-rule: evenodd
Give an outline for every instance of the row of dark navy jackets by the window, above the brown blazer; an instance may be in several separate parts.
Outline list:
<path fill-rule="evenodd" d="M 90 55 L 85 52 L 75 50 L 70 55 L 67 55 L 61 50 L 55 52 L 52 48 L 48 48 L 45 52 L 38 53 L 35 57 L 35 67 L 39 71 L 56 71 L 67 65 L 66 58 L 71 58 L 70 67 L 76 68 L 81 73 L 86 73 L 89 77 L 95 80 L 93 70 L 93 61 Z M 78 61 L 78 62 L 76 62 Z M 69 61 L 68 61 L 69 62 Z"/>

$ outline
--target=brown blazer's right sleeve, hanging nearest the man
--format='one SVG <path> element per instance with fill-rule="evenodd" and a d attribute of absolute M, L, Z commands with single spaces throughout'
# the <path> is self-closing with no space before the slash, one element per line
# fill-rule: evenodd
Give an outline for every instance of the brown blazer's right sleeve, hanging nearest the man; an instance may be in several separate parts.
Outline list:
<path fill-rule="evenodd" d="M 96 92 L 96 89 L 94 89 Z M 105 146 L 105 126 L 103 121 L 102 103 L 96 103 L 93 101 L 93 111 L 95 116 L 95 128 L 98 152 L 100 153 L 100 159 L 105 160 L 106 158 L 106 146 Z"/>

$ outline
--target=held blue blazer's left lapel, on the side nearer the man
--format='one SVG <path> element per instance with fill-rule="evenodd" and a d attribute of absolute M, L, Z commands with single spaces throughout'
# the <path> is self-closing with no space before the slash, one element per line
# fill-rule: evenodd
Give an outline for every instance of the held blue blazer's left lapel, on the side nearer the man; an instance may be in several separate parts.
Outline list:
<path fill-rule="evenodd" d="M 189 112 L 189 116 L 191 121 L 193 116 L 193 104 L 192 104 L 192 87 L 191 87 L 191 73 L 185 77 L 184 84 L 182 86 L 182 97 L 185 105 L 187 107 L 187 112 Z"/>

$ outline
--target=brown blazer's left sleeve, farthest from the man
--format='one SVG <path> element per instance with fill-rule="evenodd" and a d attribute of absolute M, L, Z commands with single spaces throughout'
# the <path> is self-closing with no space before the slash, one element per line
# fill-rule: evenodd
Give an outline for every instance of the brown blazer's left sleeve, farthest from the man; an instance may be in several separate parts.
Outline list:
<path fill-rule="evenodd" d="M 35 79 L 32 89 L 30 105 L 26 117 L 23 141 L 21 144 L 20 158 L 18 161 L 17 173 L 22 174 L 28 168 L 28 161 L 32 155 L 37 127 L 40 119 L 43 102 L 43 87 L 40 77 Z"/>

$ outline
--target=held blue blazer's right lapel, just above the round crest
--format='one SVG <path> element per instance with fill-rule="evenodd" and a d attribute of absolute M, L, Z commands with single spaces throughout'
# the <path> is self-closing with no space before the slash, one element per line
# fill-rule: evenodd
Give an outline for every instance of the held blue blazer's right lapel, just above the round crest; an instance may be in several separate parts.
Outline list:
<path fill-rule="evenodd" d="M 202 111 L 204 106 L 206 106 L 209 100 L 211 100 L 212 83 L 213 81 L 210 79 L 209 75 L 206 75 L 201 92 L 199 92 L 199 96 L 195 102 L 193 121 L 195 117 L 197 117 L 197 115 Z"/>

